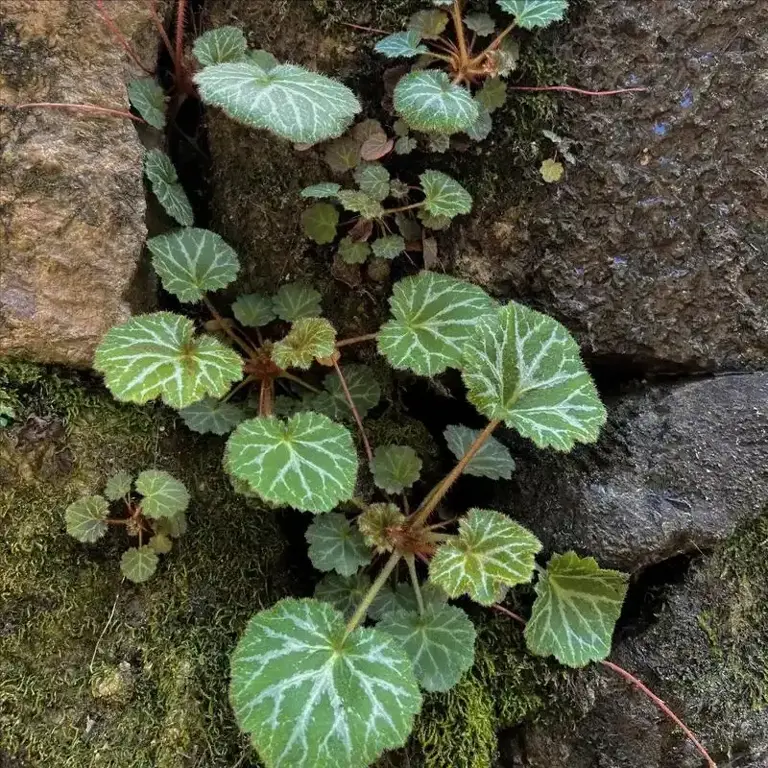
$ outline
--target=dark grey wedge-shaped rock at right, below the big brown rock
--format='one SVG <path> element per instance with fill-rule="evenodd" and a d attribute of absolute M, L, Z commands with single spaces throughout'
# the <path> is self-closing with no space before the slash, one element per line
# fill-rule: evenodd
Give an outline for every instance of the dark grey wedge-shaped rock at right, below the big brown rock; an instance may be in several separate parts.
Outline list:
<path fill-rule="evenodd" d="M 519 455 L 491 502 L 549 550 L 630 571 L 727 538 L 768 505 L 768 373 L 650 388 L 609 403 L 595 447 Z M 517 453 L 517 449 L 515 449 Z"/>

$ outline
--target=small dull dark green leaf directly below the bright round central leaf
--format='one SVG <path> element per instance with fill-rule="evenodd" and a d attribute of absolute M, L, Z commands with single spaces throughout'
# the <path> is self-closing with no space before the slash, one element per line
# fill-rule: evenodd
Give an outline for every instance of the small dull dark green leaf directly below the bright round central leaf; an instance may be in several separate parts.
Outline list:
<path fill-rule="evenodd" d="M 309 559 L 318 571 L 351 576 L 371 562 L 371 550 L 360 531 L 337 512 L 316 517 L 306 533 Z"/>

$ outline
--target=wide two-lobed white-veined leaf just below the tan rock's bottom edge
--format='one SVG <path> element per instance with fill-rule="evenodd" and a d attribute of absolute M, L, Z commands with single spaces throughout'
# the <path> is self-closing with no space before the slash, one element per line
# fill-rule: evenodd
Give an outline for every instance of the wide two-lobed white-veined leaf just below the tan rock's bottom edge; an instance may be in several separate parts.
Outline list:
<path fill-rule="evenodd" d="M 224 397 L 243 375 L 236 352 L 213 336 L 195 336 L 192 321 L 171 312 L 137 315 L 110 329 L 93 367 L 118 400 L 146 403 L 159 396 L 172 408 Z"/>

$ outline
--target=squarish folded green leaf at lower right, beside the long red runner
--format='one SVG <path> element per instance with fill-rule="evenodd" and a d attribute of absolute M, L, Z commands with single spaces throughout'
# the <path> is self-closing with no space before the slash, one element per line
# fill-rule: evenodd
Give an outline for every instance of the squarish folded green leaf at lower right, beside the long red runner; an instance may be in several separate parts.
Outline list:
<path fill-rule="evenodd" d="M 528 650 L 584 667 L 611 652 L 611 637 L 627 594 L 627 576 L 600 568 L 575 552 L 553 555 L 536 584 L 525 627 Z"/>

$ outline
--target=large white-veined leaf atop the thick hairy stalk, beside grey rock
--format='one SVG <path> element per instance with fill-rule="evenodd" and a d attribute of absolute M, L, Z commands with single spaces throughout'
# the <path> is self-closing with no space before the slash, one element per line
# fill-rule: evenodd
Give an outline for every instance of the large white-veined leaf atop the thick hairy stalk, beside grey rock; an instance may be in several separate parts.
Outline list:
<path fill-rule="evenodd" d="M 464 347 L 467 398 L 539 448 L 593 443 L 606 413 L 564 326 L 510 302 L 483 318 Z"/>

